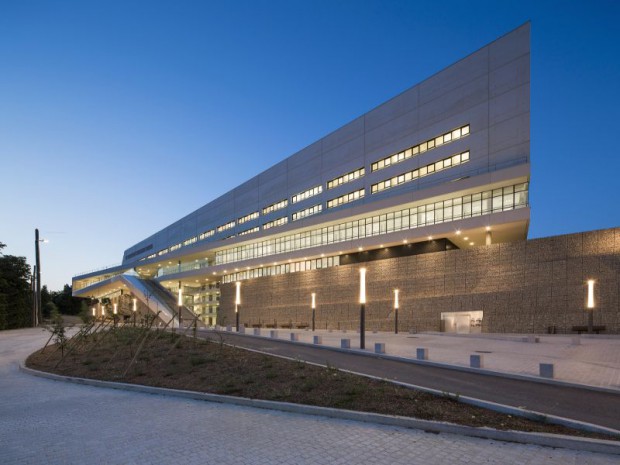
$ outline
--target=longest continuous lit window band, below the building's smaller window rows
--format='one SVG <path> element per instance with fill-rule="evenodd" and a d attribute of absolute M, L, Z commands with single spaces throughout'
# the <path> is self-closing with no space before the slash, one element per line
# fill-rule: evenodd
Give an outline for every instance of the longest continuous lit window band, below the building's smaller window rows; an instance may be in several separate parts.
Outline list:
<path fill-rule="evenodd" d="M 473 216 L 514 210 L 527 205 L 528 184 L 522 183 L 231 247 L 216 252 L 215 263 L 216 265 L 234 263 Z"/>

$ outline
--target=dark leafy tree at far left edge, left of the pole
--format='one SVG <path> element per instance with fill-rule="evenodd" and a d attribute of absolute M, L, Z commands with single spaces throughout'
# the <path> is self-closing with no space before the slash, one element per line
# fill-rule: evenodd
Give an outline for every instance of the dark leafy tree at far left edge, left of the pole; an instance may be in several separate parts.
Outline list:
<path fill-rule="evenodd" d="M 4 255 L 0 242 L 0 329 L 32 325 L 30 265 L 25 257 Z"/>

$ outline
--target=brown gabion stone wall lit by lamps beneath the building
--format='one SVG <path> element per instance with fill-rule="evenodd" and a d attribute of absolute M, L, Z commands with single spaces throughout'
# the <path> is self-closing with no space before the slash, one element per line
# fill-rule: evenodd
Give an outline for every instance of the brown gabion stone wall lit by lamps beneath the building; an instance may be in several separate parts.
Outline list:
<path fill-rule="evenodd" d="M 441 312 L 484 312 L 482 331 L 571 332 L 586 325 L 586 281 L 596 281 L 594 324 L 620 333 L 620 228 L 393 258 L 242 281 L 240 322 L 359 326 L 359 269 L 367 269 L 367 330 L 439 331 Z M 221 288 L 220 324 L 234 324 L 235 285 Z"/>

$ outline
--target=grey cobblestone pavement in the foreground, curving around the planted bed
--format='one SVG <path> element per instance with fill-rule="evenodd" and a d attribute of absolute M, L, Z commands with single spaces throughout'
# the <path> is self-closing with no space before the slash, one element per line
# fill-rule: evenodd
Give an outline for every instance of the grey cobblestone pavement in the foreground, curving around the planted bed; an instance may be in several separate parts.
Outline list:
<path fill-rule="evenodd" d="M 40 330 L 0 333 L 2 464 L 616 464 L 617 456 L 80 386 L 18 362 Z"/>

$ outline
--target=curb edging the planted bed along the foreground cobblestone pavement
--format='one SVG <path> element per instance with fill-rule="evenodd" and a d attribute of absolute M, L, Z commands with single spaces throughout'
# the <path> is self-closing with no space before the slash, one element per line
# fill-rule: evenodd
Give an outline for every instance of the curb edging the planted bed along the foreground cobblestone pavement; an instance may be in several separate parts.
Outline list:
<path fill-rule="evenodd" d="M 281 412 L 323 416 L 337 418 L 341 420 L 353 420 L 366 423 L 375 423 L 387 426 L 397 426 L 409 429 L 419 429 L 425 432 L 450 433 L 462 436 L 494 439 L 498 441 L 515 442 L 519 444 L 533 444 L 546 447 L 559 447 L 578 451 L 596 452 L 600 454 L 620 455 L 620 442 L 590 438 L 575 438 L 564 435 L 554 435 L 548 433 L 526 433 L 521 431 L 501 431 L 491 428 L 476 428 L 471 426 L 455 425 L 452 423 L 419 420 L 415 418 L 399 417 L 393 415 L 382 415 L 378 413 L 354 412 L 351 410 L 339 410 L 328 407 L 314 407 L 310 405 L 291 404 L 288 402 L 276 402 L 269 400 L 248 399 L 245 397 L 233 397 L 219 394 L 208 394 L 195 391 L 184 391 L 177 389 L 158 388 L 143 386 L 139 384 L 118 383 L 112 381 L 101 381 L 86 378 L 76 378 L 71 376 L 56 375 L 38 370 L 33 370 L 19 364 L 19 369 L 27 374 L 47 378 L 54 381 L 64 381 L 87 386 L 105 387 L 124 391 L 142 392 L 147 394 L 165 395 L 183 399 L 202 400 L 207 402 L 217 402 L 222 404 L 238 405 L 243 407 L 253 407 Z"/>

